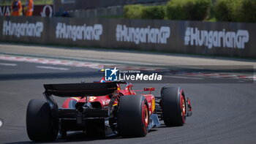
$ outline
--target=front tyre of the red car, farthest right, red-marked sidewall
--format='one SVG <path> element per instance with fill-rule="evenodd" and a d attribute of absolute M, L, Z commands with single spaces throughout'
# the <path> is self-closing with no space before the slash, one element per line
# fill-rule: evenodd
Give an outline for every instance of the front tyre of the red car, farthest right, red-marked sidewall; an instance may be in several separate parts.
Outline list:
<path fill-rule="evenodd" d="M 162 113 L 166 126 L 183 126 L 186 121 L 184 91 L 176 87 L 163 87 L 161 91 Z"/>

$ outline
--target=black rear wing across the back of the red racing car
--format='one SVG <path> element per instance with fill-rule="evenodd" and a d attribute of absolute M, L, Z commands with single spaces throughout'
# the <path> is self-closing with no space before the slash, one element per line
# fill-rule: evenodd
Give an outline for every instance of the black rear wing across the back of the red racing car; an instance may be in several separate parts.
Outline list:
<path fill-rule="evenodd" d="M 118 83 L 124 82 L 45 84 L 44 87 L 48 96 L 105 96 L 113 94 Z"/>

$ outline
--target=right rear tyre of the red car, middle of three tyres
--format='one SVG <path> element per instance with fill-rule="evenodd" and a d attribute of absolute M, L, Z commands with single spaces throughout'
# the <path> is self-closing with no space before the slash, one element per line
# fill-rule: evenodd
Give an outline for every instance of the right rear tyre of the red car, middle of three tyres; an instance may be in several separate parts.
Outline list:
<path fill-rule="evenodd" d="M 122 137 L 145 137 L 149 122 L 146 98 L 141 95 L 121 96 L 118 105 L 118 133 Z"/>

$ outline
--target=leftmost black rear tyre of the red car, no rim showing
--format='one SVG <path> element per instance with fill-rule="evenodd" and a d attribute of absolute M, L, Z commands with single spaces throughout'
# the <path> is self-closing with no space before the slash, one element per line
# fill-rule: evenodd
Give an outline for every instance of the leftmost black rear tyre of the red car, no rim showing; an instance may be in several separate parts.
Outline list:
<path fill-rule="evenodd" d="M 53 124 L 50 105 L 43 99 L 32 99 L 26 111 L 26 131 L 30 140 L 52 141 L 59 132 Z M 57 120 L 55 120 L 56 123 Z"/>

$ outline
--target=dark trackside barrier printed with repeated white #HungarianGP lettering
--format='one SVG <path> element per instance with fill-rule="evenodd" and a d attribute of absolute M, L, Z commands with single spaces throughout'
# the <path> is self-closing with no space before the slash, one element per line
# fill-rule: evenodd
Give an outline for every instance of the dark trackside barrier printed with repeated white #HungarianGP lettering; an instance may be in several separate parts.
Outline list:
<path fill-rule="evenodd" d="M 0 17 L 0 40 L 256 58 L 256 23 Z"/>

